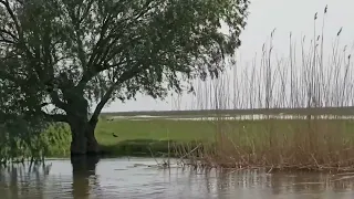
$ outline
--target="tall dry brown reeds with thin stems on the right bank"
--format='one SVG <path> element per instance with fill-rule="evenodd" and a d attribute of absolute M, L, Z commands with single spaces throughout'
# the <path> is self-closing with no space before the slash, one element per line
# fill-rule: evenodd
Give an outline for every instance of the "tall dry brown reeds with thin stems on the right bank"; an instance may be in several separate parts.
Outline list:
<path fill-rule="evenodd" d="M 219 115 L 212 122 L 215 143 L 176 148 L 188 158 L 188 164 L 268 171 L 354 170 L 354 108 L 353 115 L 346 117 L 339 112 L 331 116 L 314 112 L 323 107 L 351 109 L 354 100 L 353 46 L 340 44 L 340 29 L 333 33 L 331 51 L 326 51 L 326 11 L 327 8 L 322 22 L 314 14 L 313 36 L 302 36 L 300 48 L 289 34 L 287 56 L 279 57 L 273 52 L 273 30 L 260 59 L 256 56 L 248 65 L 231 62 L 230 72 L 220 78 L 196 83 L 196 109 L 263 108 L 264 113 L 262 119 L 229 119 L 230 116 Z M 308 112 L 274 116 L 268 112 L 272 108 Z"/>

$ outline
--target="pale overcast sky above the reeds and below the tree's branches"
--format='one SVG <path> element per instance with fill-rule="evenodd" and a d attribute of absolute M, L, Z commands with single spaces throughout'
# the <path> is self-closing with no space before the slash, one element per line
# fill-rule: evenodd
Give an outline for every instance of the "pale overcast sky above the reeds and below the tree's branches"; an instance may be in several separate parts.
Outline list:
<path fill-rule="evenodd" d="M 325 36 L 332 42 L 337 31 L 343 27 L 341 44 L 352 46 L 354 41 L 354 0 L 251 0 L 248 25 L 241 34 L 242 46 L 239 49 L 242 62 L 251 60 L 254 53 L 260 52 L 270 32 L 277 28 L 274 35 L 274 51 L 279 54 L 289 49 L 289 32 L 293 38 L 301 40 L 302 35 L 313 35 L 315 12 L 319 12 L 317 29 L 322 27 L 322 17 L 325 6 L 329 11 L 325 17 Z M 331 45 L 326 45 L 331 48 Z M 191 103 L 191 96 L 183 97 L 183 106 Z M 138 96 L 136 101 L 122 104 L 114 102 L 104 108 L 104 112 L 127 111 L 163 111 L 171 109 L 171 98 L 165 102 L 155 101 L 148 96 Z"/>

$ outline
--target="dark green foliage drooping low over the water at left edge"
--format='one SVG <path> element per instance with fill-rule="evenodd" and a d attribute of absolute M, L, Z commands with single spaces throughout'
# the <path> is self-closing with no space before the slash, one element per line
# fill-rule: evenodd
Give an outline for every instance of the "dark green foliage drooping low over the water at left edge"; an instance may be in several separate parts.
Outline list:
<path fill-rule="evenodd" d="M 17 94 L 4 88 L 0 96 L 0 163 L 39 159 L 44 155 L 39 151 L 38 145 L 43 145 L 40 137 L 48 124 L 42 117 L 28 112 L 25 105 L 33 105 L 31 102 L 21 106 L 27 96 L 19 95 L 17 98 Z"/>

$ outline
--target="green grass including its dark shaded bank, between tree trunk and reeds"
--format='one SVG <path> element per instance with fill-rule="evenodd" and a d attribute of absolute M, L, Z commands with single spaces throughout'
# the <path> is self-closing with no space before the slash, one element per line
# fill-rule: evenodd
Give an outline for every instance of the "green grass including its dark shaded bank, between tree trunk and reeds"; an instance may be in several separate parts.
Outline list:
<path fill-rule="evenodd" d="M 113 133 L 118 137 L 114 137 Z M 176 144 L 195 145 L 215 138 L 215 127 L 207 121 L 102 121 L 95 132 L 102 149 L 112 155 L 154 156 L 168 153 Z"/>

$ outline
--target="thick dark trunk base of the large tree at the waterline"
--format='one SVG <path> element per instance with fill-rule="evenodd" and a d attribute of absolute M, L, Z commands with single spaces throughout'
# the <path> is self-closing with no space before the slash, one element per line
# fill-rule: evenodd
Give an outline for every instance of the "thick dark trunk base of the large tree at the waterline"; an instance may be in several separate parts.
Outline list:
<path fill-rule="evenodd" d="M 100 154 L 98 143 L 94 132 L 97 122 L 71 119 L 70 128 L 72 133 L 71 155 L 97 155 Z"/>

